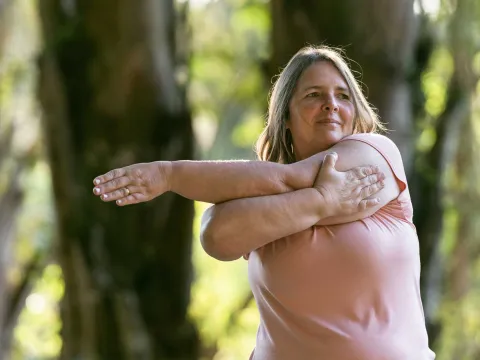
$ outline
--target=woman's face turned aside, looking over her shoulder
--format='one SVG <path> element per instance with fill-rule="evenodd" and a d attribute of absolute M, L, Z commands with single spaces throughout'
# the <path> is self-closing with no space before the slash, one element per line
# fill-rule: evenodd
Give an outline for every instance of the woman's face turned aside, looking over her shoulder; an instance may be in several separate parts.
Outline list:
<path fill-rule="evenodd" d="M 310 157 L 353 133 L 355 107 L 347 83 L 329 61 L 310 65 L 289 104 L 287 128 L 296 160 Z"/>

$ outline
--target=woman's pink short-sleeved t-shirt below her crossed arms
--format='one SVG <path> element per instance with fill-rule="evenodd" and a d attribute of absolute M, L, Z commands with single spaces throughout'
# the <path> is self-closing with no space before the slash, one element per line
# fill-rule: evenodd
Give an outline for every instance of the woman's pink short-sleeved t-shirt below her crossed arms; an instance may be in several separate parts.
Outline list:
<path fill-rule="evenodd" d="M 356 134 L 387 160 L 400 195 L 374 215 L 313 226 L 249 254 L 260 311 L 254 360 L 431 360 L 420 257 L 400 152 Z"/>

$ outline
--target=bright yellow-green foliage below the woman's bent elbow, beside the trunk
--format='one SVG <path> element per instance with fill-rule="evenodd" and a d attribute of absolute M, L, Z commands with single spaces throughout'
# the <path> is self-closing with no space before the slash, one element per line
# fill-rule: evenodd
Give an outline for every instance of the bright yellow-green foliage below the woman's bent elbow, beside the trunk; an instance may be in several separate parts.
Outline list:
<path fill-rule="evenodd" d="M 200 218 L 206 208 L 207 204 L 196 203 L 195 281 L 189 313 L 197 323 L 203 346 L 218 349 L 215 360 L 247 359 L 255 346 L 259 323 L 254 302 L 245 304 L 250 299 L 248 263 L 243 259 L 221 262 L 203 251 L 198 239 Z"/>

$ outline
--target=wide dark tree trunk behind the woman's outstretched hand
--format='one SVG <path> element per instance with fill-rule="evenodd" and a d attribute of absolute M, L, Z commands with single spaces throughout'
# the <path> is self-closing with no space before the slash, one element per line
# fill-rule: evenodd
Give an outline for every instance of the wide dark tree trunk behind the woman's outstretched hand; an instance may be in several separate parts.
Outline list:
<path fill-rule="evenodd" d="M 173 1 L 42 0 L 40 14 L 62 358 L 196 359 L 186 317 L 192 202 L 166 194 L 118 208 L 91 193 L 93 178 L 112 168 L 193 156 Z"/>

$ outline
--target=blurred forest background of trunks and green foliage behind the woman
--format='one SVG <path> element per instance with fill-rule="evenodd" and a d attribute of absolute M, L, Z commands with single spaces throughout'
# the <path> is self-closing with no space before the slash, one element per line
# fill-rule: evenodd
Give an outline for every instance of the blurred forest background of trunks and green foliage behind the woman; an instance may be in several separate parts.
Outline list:
<path fill-rule="evenodd" d="M 206 204 L 116 208 L 133 162 L 254 159 L 275 74 L 341 46 L 409 173 L 439 360 L 480 359 L 480 1 L 0 0 L 0 359 L 247 359 Z"/>

